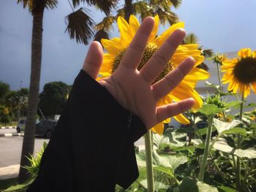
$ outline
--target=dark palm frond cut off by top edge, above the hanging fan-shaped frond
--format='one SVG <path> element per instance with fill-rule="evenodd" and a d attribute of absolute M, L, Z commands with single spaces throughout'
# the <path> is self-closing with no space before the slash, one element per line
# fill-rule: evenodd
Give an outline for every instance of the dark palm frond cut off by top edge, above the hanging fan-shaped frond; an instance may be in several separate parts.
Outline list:
<path fill-rule="evenodd" d="M 87 3 L 89 6 L 94 5 L 102 10 L 106 15 L 110 14 L 111 9 L 116 7 L 118 0 L 72 0 L 74 7 L 77 7 L 80 3 Z"/>

